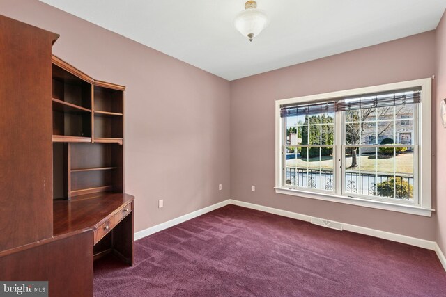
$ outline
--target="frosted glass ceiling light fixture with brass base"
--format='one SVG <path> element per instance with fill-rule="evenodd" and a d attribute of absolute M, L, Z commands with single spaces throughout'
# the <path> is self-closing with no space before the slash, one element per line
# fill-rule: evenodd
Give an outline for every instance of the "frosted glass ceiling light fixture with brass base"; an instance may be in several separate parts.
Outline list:
<path fill-rule="evenodd" d="M 247 1 L 245 3 L 245 10 L 234 21 L 236 29 L 243 36 L 249 38 L 249 41 L 252 41 L 254 36 L 259 35 L 267 24 L 268 17 L 262 10 L 257 9 L 256 1 Z"/>

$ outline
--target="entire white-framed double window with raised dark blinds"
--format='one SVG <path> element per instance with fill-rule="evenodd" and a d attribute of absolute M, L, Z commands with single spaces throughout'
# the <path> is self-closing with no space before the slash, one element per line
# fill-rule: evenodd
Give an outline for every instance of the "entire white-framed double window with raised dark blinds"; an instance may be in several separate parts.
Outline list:
<path fill-rule="evenodd" d="M 431 80 L 276 101 L 276 192 L 431 215 Z"/>

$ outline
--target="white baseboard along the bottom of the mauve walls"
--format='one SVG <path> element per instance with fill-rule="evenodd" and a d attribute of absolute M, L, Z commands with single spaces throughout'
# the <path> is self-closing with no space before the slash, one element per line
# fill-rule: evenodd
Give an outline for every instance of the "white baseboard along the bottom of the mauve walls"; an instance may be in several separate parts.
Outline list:
<path fill-rule="evenodd" d="M 265 212 L 268 212 L 269 214 L 277 214 L 278 216 L 285 216 L 287 218 L 295 218 L 297 220 L 303 220 L 305 222 L 309 222 L 312 219 L 312 216 L 307 216 L 305 214 L 298 214 L 298 213 L 295 213 L 292 211 L 275 209 L 272 207 L 265 207 L 265 206 L 262 206 L 259 204 L 253 204 L 253 203 L 249 203 L 249 202 L 243 202 L 243 201 L 239 201 L 239 200 L 229 199 L 229 200 L 224 200 L 222 202 L 219 202 L 217 204 L 210 205 L 209 207 L 205 207 L 203 209 L 193 211 L 190 214 L 185 214 L 184 216 L 174 218 L 173 220 L 169 220 L 165 223 L 161 223 L 160 225 L 149 227 L 146 230 L 141 230 L 139 232 L 136 232 L 134 234 L 134 240 L 141 239 L 143 237 L 146 237 L 146 236 L 151 235 L 156 232 L 160 232 L 160 231 L 167 229 L 169 227 L 173 227 L 174 225 L 178 225 L 179 223 L 183 223 L 186 220 L 190 220 L 191 218 L 196 218 L 197 216 L 201 216 L 202 214 L 206 214 L 209 211 L 219 209 L 220 207 L 224 207 L 229 204 L 238 205 L 240 207 L 246 207 L 249 209 L 255 209 L 255 210 L 259 210 L 259 211 L 265 211 Z M 368 236 L 374 236 L 374 237 L 378 237 L 380 239 L 387 239 L 387 240 L 396 241 L 399 243 L 406 243 L 410 246 L 417 246 L 419 248 L 426 248 L 428 250 L 435 250 L 438 255 L 438 259 L 440 259 L 440 262 L 446 271 L 445 255 L 440 250 L 440 247 L 438 246 L 438 244 L 435 241 L 428 241 L 425 239 L 417 239 L 415 237 L 410 237 L 410 236 L 391 233 L 391 232 L 385 232 L 385 231 L 381 231 L 381 230 L 376 230 L 376 229 L 371 229 L 371 228 L 367 228 L 367 227 L 361 227 L 361 226 L 351 225 L 351 224 L 346 224 L 346 223 L 342 223 L 342 225 L 343 225 L 343 229 L 346 231 L 364 234 L 364 235 L 368 235 Z"/>

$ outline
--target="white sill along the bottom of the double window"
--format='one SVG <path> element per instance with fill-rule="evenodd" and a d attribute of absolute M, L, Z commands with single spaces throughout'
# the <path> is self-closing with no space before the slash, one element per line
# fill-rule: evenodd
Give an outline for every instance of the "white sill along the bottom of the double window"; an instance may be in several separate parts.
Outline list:
<path fill-rule="evenodd" d="M 276 187 L 275 191 L 276 191 L 276 193 L 284 194 L 284 195 L 293 195 L 293 196 L 298 196 L 298 197 L 303 197 L 303 198 L 311 198 L 311 199 L 324 200 L 324 201 L 330 201 L 330 202 L 351 204 L 351 205 L 356 205 L 356 206 L 360 206 L 360 207 L 370 207 L 370 208 L 374 208 L 374 209 L 397 211 L 397 212 L 403 212 L 406 214 L 415 214 L 417 216 L 429 216 L 430 217 L 432 214 L 432 211 L 435 211 L 435 209 L 424 209 L 422 207 L 406 205 L 406 204 L 392 204 L 392 203 L 387 203 L 387 202 L 364 200 L 364 199 L 360 199 L 360 198 L 351 198 L 351 197 L 345 197 L 345 196 L 333 195 L 333 194 L 300 191 L 300 190 L 295 190 L 295 189 L 291 189 L 291 188 L 277 188 Z"/>

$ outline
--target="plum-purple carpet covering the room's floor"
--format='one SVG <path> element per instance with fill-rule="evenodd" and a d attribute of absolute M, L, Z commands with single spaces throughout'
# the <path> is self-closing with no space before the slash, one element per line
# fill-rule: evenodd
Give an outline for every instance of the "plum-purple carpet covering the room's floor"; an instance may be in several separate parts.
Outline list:
<path fill-rule="evenodd" d="M 435 252 L 229 205 L 95 262 L 95 296 L 446 296 Z"/>

